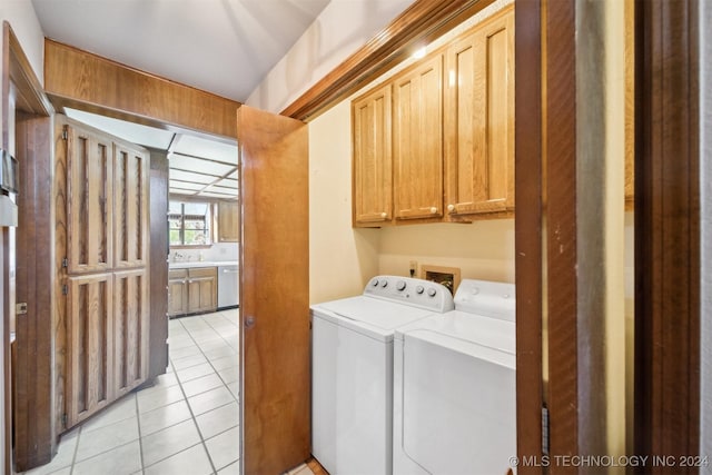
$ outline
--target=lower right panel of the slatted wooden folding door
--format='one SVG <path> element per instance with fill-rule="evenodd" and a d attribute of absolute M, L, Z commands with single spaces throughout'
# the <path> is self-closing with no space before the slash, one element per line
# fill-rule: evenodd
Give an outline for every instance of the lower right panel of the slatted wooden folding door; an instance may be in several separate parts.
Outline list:
<path fill-rule="evenodd" d="M 113 274 L 113 388 L 128 393 L 148 375 L 148 271 Z"/>

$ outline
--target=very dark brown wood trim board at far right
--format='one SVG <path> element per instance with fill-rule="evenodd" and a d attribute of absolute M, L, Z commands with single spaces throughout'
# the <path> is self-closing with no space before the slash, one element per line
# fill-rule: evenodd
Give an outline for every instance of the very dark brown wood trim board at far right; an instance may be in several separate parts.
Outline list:
<path fill-rule="evenodd" d="M 635 8 L 635 452 L 696 455 L 699 6 L 654 0 Z"/>

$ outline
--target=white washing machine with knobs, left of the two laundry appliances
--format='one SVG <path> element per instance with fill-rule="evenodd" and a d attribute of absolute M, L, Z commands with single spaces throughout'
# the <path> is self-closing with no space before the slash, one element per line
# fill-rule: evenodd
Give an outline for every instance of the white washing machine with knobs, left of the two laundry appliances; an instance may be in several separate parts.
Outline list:
<path fill-rule="evenodd" d="M 378 276 L 312 306 L 312 453 L 332 475 L 393 469 L 393 334 L 454 308 L 444 286 Z"/>

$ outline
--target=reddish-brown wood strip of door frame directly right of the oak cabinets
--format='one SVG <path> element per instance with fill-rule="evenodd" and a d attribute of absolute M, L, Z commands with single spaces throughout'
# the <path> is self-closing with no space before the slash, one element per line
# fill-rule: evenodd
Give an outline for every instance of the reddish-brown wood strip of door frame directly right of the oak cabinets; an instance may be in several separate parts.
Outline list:
<path fill-rule="evenodd" d="M 542 4 L 517 0 L 515 19 L 515 188 L 514 221 L 516 278 L 516 434 L 517 455 L 542 456 Z M 520 475 L 543 467 L 517 467 Z"/>

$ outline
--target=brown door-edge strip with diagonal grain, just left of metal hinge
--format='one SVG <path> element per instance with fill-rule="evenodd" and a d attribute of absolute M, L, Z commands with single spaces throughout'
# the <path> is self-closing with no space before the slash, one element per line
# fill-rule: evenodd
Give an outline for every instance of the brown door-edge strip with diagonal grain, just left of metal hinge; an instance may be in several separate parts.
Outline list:
<path fill-rule="evenodd" d="M 576 455 L 580 414 L 574 2 L 548 2 L 545 14 L 550 444 L 554 455 Z M 560 465 L 550 471 L 552 474 L 575 473 L 576 467 Z"/>

